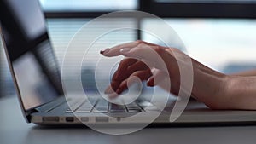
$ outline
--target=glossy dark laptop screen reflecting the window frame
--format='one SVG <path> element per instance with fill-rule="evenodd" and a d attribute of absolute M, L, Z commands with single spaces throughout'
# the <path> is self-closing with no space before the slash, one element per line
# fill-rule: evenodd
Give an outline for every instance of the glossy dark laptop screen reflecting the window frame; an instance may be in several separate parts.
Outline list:
<path fill-rule="evenodd" d="M 25 110 L 62 94 L 61 76 L 38 1 L 0 2 L 1 30 Z"/>

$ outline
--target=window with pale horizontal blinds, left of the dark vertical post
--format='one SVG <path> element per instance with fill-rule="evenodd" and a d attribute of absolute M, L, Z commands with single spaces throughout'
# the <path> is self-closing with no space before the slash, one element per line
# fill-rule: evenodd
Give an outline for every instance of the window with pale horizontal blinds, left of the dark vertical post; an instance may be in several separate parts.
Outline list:
<path fill-rule="evenodd" d="M 67 49 L 67 45 L 69 41 L 72 39 L 73 35 L 90 19 L 47 19 L 47 27 L 49 32 L 49 37 L 55 50 L 55 55 L 57 57 L 59 66 L 61 66 L 61 61 L 63 60 L 63 56 Z M 84 43 L 86 43 L 86 37 L 91 37 L 95 34 L 96 31 L 101 31 L 102 26 L 111 26 L 111 25 L 119 25 L 119 26 L 131 26 L 136 25 L 135 20 L 131 19 L 122 19 L 119 20 L 119 23 L 113 22 L 114 20 L 104 20 L 104 22 L 96 23 L 95 28 L 91 29 L 89 32 L 84 33 Z M 87 56 L 87 62 L 93 65 L 95 62 L 94 58 L 96 55 L 99 55 L 99 51 L 104 48 L 108 48 L 118 43 L 124 43 L 129 41 L 134 41 L 137 39 L 137 31 L 136 30 L 128 30 L 128 31 L 119 31 L 119 32 L 112 32 L 108 34 L 108 37 L 102 37 L 102 43 L 96 44 L 92 50 L 90 50 L 90 55 Z M 84 49 L 81 49 L 77 53 L 82 53 Z M 7 60 L 5 58 L 3 52 L 3 45 L 1 43 L 0 49 L 0 58 L 1 58 L 1 95 L 15 95 L 14 85 L 11 79 L 11 75 L 9 72 L 9 68 L 7 65 Z M 75 55 L 74 55 L 75 58 Z M 87 65 L 88 66 L 88 65 Z M 71 65 L 72 67 L 72 65 Z M 106 63 L 106 67 L 108 67 L 108 61 Z M 104 67 L 103 67 L 104 68 Z M 87 82 L 87 88 L 95 90 L 94 78 L 90 77 L 94 74 L 93 68 L 88 66 L 84 68 L 84 76 L 87 78 L 85 79 Z M 92 78 L 92 79 L 88 79 Z"/>

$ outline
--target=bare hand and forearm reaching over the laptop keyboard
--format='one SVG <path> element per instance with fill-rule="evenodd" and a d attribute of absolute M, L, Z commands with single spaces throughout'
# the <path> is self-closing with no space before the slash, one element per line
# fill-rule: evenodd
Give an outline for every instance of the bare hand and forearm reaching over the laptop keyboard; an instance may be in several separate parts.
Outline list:
<path fill-rule="evenodd" d="M 101 54 L 107 57 L 125 56 L 105 91 L 110 97 L 121 94 L 134 77 L 147 81 L 148 86 L 159 85 L 177 95 L 180 90 L 180 65 L 177 65 L 177 61 L 183 67 L 188 67 L 189 61 L 192 61 L 192 96 L 197 101 L 212 109 L 256 110 L 256 70 L 225 75 L 202 65 L 178 49 L 140 40 L 103 49 Z M 160 60 L 154 54 L 160 55 Z M 172 81 L 170 87 L 166 87 L 165 79 Z"/>

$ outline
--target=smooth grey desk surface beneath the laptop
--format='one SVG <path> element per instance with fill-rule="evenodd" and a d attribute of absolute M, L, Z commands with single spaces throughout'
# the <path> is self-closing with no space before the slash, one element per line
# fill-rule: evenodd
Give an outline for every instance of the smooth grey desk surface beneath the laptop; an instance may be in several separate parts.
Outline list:
<path fill-rule="evenodd" d="M 85 128 L 42 128 L 26 124 L 17 98 L 0 99 L 1 144 L 254 144 L 256 126 L 148 128 L 130 135 L 104 135 Z"/>

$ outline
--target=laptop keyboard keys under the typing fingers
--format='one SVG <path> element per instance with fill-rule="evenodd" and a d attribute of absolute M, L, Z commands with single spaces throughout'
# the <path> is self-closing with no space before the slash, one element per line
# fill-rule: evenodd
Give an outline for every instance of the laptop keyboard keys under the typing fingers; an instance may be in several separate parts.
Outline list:
<path fill-rule="evenodd" d="M 69 108 L 65 112 L 160 112 L 149 101 L 134 101 L 127 105 L 110 103 L 105 99 L 93 99 L 90 101 L 70 101 Z"/>

